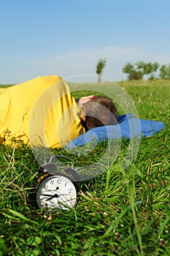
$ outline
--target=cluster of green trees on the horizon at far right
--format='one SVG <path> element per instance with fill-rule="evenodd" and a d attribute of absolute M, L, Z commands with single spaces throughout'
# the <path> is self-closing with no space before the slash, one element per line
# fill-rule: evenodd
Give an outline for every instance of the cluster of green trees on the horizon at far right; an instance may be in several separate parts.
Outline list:
<path fill-rule="evenodd" d="M 156 61 L 154 63 L 137 61 L 134 65 L 128 62 L 122 71 L 128 74 L 128 80 L 140 80 L 143 79 L 144 75 L 148 75 L 150 80 L 155 78 L 170 79 L 170 64 L 160 65 Z"/>

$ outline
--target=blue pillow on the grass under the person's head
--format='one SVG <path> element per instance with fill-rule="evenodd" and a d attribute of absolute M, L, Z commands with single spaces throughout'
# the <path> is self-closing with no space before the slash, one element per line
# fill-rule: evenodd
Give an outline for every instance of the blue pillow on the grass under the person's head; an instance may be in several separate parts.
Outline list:
<path fill-rule="evenodd" d="M 133 137 L 148 137 L 164 129 L 163 122 L 135 118 L 131 113 L 118 116 L 118 124 L 95 127 L 88 132 L 80 135 L 67 144 L 66 148 L 75 146 L 84 146 L 93 142 L 96 145 L 100 141 L 107 141 L 112 138 L 126 138 L 130 140 Z"/>

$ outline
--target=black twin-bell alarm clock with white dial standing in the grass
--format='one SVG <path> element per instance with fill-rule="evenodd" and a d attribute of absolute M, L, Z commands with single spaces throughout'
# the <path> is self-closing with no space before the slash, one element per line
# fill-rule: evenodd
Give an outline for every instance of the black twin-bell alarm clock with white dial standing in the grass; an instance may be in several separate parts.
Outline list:
<path fill-rule="evenodd" d="M 52 160 L 65 158 L 72 161 L 72 167 L 58 166 Z M 79 175 L 69 157 L 54 155 L 50 161 L 39 167 L 41 175 L 37 178 L 35 200 L 38 208 L 45 211 L 69 210 L 77 204 L 77 182 Z"/>

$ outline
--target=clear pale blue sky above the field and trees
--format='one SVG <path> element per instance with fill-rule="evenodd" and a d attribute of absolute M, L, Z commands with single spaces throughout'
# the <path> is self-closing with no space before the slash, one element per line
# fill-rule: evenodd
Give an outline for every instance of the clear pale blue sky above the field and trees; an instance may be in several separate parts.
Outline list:
<path fill-rule="evenodd" d="M 127 62 L 170 63 L 169 0 L 1 0 L 0 83 L 38 75 L 125 80 Z M 83 76 L 81 76 L 83 75 Z"/>

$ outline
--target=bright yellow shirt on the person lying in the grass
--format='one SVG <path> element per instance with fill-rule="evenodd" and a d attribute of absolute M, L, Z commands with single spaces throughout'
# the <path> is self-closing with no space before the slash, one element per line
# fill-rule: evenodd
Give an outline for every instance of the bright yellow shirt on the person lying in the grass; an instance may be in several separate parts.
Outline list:
<path fill-rule="evenodd" d="M 58 75 L 0 89 L 0 143 L 61 148 L 85 132 L 81 111 Z"/>

